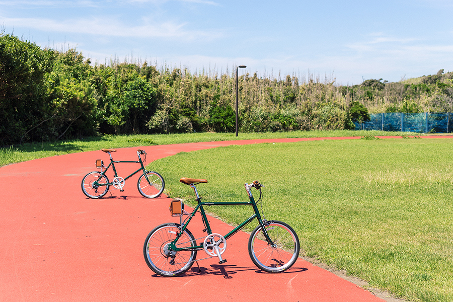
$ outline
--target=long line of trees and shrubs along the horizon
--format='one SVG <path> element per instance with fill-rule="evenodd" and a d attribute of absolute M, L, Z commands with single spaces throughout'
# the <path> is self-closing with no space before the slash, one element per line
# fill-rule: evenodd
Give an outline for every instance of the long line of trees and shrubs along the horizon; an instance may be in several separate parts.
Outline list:
<path fill-rule="evenodd" d="M 0 145 L 101 134 L 234 132 L 235 68 L 92 63 L 0 34 Z M 244 132 L 352 129 L 369 113 L 451 112 L 453 72 L 341 86 L 330 77 L 239 77 Z"/>

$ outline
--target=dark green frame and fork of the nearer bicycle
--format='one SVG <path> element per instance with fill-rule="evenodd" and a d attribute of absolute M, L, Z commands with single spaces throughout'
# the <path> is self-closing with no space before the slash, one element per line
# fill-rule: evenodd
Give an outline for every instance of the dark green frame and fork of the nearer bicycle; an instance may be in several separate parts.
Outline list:
<path fill-rule="evenodd" d="M 201 249 L 203 249 L 203 245 L 195 246 L 195 247 L 185 247 L 185 248 L 177 248 L 176 247 L 176 243 L 178 242 L 178 240 L 181 237 L 181 235 L 184 233 L 184 230 L 186 230 L 187 225 L 189 224 L 190 220 L 192 220 L 192 218 L 195 216 L 195 214 L 198 211 L 198 209 L 200 209 L 201 216 L 202 216 L 202 219 L 204 221 L 204 225 L 206 226 L 206 232 L 208 233 L 208 235 L 212 234 L 212 231 L 211 231 L 211 228 L 210 228 L 210 225 L 209 225 L 209 221 L 207 219 L 207 216 L 206 216 L 206 213 L 204 211 L 203 205 L 209 205 L 209 206 L 210 205 L 251 205 L 253 207 L 253 210 L 254 210 L 255 213 L 252 216 L 250 216 L 249 218 L 247 218 L 244 222 L 242 222 L 241 224 L 236 226 L 236 228 L 234 228 L 232 231 L 230 231 L 230 233 L 228 233 L 225 236 L 223 236 L 223 238 L 225 238 L 225 240 L 229 239 L 230 237 L 232 237 L 233 235 L 235 235 L 236 233 L 241 231 L 247 224 L 249 224 L 250 222 L 252 222 L 256 218 L 256 219 L 258 219 L 258 222 L 261 225 L 261 228 L 263 229 L 263 234 L 264 234 L 264 237 L 266 238 L 266 241 L 270 245 L 273 246 L 274 244 L 273 244 L 272 240 L 269 238 L 269 235 L 267 234 L 267 231 L 266 231 L 266 228 L 265 228 L 265 223 L 261 219 L 261 215 L 260 215 L 260 212 L 259 212 L 258 207 L 256 205 L 255 199 L 253 198 L 252 195 L 249 196 L 249 199 L 250 199 L 250 201 L 242 201 L 242 202 L 241 201 L 238 201 L 238 202 L 201 202 L 201 197 L 198 198 L 197 199 L 197 201 L 198 201 L 197 206 L 193 209 L 192 213 L 189 214 L 190 217 L 188 218 L 186 223 L 184 223 L 184 225 L 182 225 L 181 231 L 176 236 L 176 239 L 170 244 L 169 248 L 172 249 L 175 252 L 187 251 L 187 250 L 189 250 L 189 251 L 190 250 L 201 250 Z"/>

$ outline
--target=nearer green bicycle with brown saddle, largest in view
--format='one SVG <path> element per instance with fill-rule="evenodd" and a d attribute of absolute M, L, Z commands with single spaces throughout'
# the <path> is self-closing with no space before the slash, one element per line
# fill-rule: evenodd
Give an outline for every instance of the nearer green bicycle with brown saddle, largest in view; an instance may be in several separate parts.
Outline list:
<path fill-rule="evenodd" d="M 194 189 L 198 204 L 191 213 L 188 213 L 184 211 L 184 204 L 180 200 L 173 200 L 170 207 L 172 215 L 180 216 L 181 223 L 161 224 L 146 237 L 143 256 L 148 267 L 155 273 L 162 276 L 183 274 L 196 261 L 197 251 L 202 250 L 206 252 L 208 258 L 218 257 L 219 264 L 225 263 L 226 260 L 222 259 L 221 255 L 226 249 L 226 240 L 255 219 L 258 220 L 259 225 L 253 230 L 248 243 L 249 256 L 253 263 L 265 272 L 278 273 L 289 269 L 296 262 L 300 250 L 297 234 L 288 224 L 277 220 L 266 220 L 261 216 L 257 205 L 262 202 L 261 187 L 264 186 L 258 181 L 245 184 L 249 201 L 244 202 L 202 202 L 196 185 L 207 183 L 207 180 L 181 178 L 180 182 Z M 260 191 L 257 202 L 252 195 L 252 188 Z M 222 236 L 212 233 L 203 209 L 205 205 L 250 205 L 254 214 L 230 233 Z M 198 211 L 206 228 L 203 231 L 207 232 L 206 237 L 197 239 L 201 240 L 200 244 L 197 244 L 197 240 L 187 229 L 189 222 Z M 184 221 L 183 215 L 188 216 Z"/>

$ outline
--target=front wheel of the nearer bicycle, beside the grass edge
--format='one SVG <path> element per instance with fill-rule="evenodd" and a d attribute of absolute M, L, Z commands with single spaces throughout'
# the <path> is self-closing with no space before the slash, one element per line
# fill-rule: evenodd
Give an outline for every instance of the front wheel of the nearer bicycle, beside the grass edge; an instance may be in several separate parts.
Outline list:
<path fill-rule="evenodd" d="M 255 265 L 268 273 L 279 273 L 290 268 L 297 260 L 300 245 L 297 234 L 288 224 L 272 220 L 265 226 L 272 241 L 267 241 L 261 225 L 249 239 L 249 255 Z"/>

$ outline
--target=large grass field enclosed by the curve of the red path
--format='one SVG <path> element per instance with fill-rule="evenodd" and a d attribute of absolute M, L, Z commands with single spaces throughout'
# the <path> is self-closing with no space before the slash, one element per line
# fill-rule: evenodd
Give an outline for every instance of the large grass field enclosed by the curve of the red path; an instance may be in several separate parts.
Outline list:
<path fill-rule="evenodd" d="M 187 202 L 193 190 L 181 177 L 208 179 L 197 187 L 204 201 L 246 200 L 243 184 L 259 180 L 265 216 L 293 226 L 303 255 L 399 297 L 453 301 L 452 146 L 417 138 L 265 143 L 180 153 L 150 168 Z M 232 224 L 251 213 L 208 210 Z"/>

